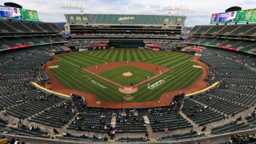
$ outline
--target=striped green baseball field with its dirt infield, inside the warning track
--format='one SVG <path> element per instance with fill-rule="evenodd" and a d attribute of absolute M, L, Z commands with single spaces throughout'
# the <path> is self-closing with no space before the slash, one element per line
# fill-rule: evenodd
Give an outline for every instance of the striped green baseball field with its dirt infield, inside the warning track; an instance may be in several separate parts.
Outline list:
<path fill-rule="evenodd" d="M 110 49 L 57 58 L 60 61 L 52 63 L 50 66 L 54 67 L 49 71 L 60 84 L 93 94 L 99 101 L 121 102 L 126 96 L 132 98 L 125 102 L 159 100 L 163 94 L 191 86 L 203 74 L 200 65 L 190 61 L 194 57 L 180 53 Z M 123 75 L 128 72 L 132 75 Z M 130 87 L 131 83 L 138 88 L 137 92 L 128 95 L 118 90 Z"/>

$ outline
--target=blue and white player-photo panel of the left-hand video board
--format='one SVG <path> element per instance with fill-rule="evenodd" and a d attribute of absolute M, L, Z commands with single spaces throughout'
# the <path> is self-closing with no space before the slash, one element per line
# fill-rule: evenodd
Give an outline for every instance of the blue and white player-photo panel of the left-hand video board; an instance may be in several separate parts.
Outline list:
<path fill-rule="evenodd" d="M 17 18 L 22 20 L 20 9 L 10 6 L 0 6 L 0 15 L 3 19 Z"/>

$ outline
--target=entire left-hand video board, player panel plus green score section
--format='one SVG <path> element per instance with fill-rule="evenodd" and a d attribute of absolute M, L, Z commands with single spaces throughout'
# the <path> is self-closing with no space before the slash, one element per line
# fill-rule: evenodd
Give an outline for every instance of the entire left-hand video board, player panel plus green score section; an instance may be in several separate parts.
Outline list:
<path fill-rule="evenodd" d="M 0 19 L 38 21 L 37 11 L 0 5 Z"/>

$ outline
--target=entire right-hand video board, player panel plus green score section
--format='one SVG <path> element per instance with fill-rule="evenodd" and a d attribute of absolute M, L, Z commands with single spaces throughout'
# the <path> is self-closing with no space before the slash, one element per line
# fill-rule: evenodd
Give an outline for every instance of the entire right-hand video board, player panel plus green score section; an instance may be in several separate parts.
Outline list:
<path fill-rule="evenodd" d="M 210 24 L 256 22 L 256 9 L 212 14 Z"/>

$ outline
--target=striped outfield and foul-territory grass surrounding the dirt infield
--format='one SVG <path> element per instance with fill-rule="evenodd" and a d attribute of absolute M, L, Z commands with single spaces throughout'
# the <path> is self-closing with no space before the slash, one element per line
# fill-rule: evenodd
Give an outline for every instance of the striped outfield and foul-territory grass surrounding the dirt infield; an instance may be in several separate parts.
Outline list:
<path fill-rule="evenodd" d="M 49 69 L 55 78 L 64 87 L 94 94 L 100 101 L 121 102 L 122 97 L 126 96 L 126 94 L 119 92 L 118 86 L 80 69 L 80 65 L 82 68 L 87 68 L 100 63 L 129 60 L 162 65 L 173 70 L 173 74 L 171 74 L 171 71 L 168 71 L 138 86 L 138 92 L 131 94 L 134 100 L 129 102 L 158 100 L 163 93 L 191 86 L 203 73 L 202 69 L 193 68 L 192 65 L 199 64 L 190 62 L 193 59 L 192 56 L 179 53 L 139 49 L 132 49 L 130 52 L 130 49 L 110 49 L 93 51 L 92 54 L 90 52 L 78 52 L 57 57 L 61 61 L 54 62 L 51 66 L 59 65 L 59 68 Z M 77 73 L 75 73 L 75 70 L 77 70 Z M 147 75 L 145 76 L 147 77 Z M 91 80 L 95 80 L 107 88 L 102 89 L 92 84 Z M 147 88 L 148 83 L 151 85 L 159 80 L 165 80 L 165 82 L 152 90 Z"/>

